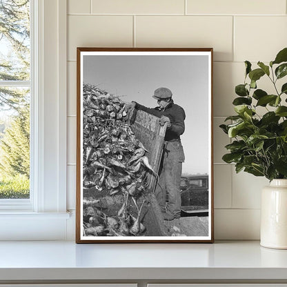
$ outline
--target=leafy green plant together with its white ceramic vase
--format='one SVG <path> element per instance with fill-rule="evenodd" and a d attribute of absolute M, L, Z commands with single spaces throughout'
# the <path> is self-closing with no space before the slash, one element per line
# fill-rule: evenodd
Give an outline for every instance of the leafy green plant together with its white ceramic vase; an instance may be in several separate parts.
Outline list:
<path fill-rule="evenodd" d="M 244 83 L 235 87 L 232 102 L 236 115 L 220 126 L 232 139 L 222 159 L 235 164 L 236 172 L 270 180 L 261 194 L 261 246 L 287 249 L 287 48 L 268 65 L 259 61 L 253 69 L 244 63 Z M 272 91 L 257 87 L 261 77 L 268 77 Z"/>

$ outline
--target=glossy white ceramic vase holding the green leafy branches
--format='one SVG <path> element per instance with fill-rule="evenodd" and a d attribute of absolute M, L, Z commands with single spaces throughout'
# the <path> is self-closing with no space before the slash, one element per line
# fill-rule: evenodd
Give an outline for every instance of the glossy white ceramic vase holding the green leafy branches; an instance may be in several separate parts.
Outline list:
<path fill-rule="evenodd" d="M 261 192 L 260 244 L 287 249 L 287 179 L 273 179 Z"/>

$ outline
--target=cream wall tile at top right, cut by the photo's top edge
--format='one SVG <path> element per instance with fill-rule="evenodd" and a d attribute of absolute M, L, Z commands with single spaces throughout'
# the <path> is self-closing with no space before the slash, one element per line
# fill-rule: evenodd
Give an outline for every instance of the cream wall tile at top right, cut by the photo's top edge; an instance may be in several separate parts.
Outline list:
<path fill-rule="evenodd" d="M 285 0 L 187 0 L 188 14 L 285 14 Z"/>

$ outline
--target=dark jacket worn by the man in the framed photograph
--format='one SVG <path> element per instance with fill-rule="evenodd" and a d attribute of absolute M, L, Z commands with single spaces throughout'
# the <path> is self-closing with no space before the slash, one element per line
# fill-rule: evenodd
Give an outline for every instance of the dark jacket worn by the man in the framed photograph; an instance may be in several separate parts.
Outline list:
<path fill-rule="evenodd" d="M 184 120 L 186 119 L 186 113 L 181 106 L 171 101 L 164 110 L 157 108 L 146 108 L 135 102 L 135 108 L 137 110 L 143 110 L 156 117 L 166 116 L 170 119 L 171 126 L 166 130 L 165 141 L 180 140 L 180 135 L 184 133 Z"/>

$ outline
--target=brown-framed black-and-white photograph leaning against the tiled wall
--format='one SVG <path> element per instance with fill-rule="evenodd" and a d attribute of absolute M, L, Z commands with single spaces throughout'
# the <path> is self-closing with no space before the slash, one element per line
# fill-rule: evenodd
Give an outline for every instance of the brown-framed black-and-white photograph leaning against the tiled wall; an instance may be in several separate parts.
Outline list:
<path fill-rule="evenodd" d="M 77 243 L 213 242 L 212 48 L 77 48 Z"/>

